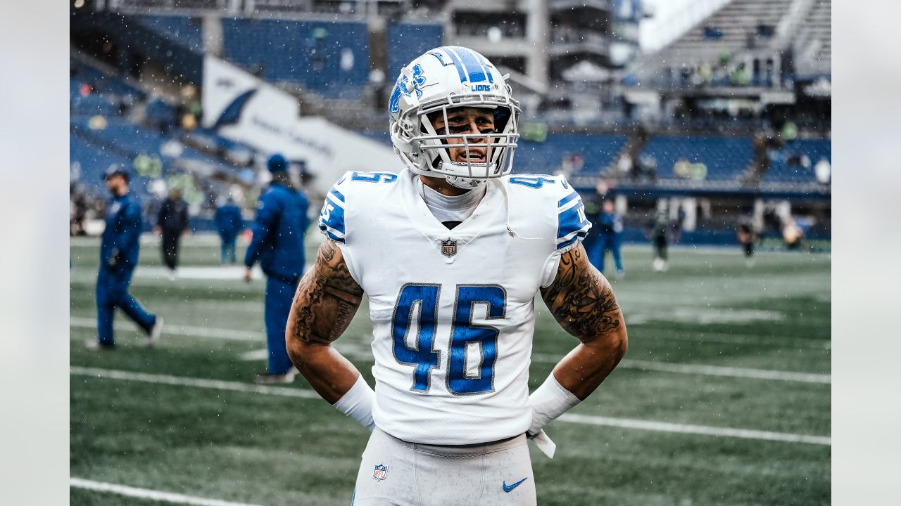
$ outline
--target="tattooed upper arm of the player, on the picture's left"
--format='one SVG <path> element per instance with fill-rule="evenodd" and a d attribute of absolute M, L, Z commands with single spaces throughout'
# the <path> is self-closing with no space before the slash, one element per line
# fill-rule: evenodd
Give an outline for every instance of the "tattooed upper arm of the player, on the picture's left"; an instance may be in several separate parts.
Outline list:
<path fill-rule="evenodd" d="M 328 345 L 350 325 L 363 289 L 331 240 L 319 248 L 313 268 L 297 285 L 291 318 L 292 338 Z"/>

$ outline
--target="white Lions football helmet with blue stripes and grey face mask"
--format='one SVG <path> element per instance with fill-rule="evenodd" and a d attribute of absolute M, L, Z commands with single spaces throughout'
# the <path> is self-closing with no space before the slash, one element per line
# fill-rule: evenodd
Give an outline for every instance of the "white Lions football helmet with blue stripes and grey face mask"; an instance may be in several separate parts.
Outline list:
<path fill-rule="evenodd" d="M 436 131 L 429 115 L 438 113 L 448 123 L 448 110 L 456 107 L 490 109 L 495 130 L 480 133 Z M 429 50 L 401 69 L 388 102 L 391 142 L 395 153 L 416 174 L 444 176 L 448 183 L 471 189 L 489 178 L 510 173 L 519 139 L 519 103 L 510 95 L 506 76 L 474 50 L 444 46 Z M 451 160 L 449 140 L 456 147 L 485 150 L 485 161 Z"/>

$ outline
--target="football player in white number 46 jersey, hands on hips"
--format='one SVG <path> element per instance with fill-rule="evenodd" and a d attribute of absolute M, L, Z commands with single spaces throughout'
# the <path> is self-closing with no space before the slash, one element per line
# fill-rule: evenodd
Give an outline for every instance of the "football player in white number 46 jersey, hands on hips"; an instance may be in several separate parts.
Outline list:
<path fill-rule="evenodd" d="M 527 438 L 585 400 L 626 350 L 562 176 L 510 176 L 519 105 L 478 52 L 430 50 L 389 105 L 399 174 L 350 172 L 297 288 L 287 349 L 315 391 L 372 430 L 353 504 L 535 504 Z M 578 344 L 531 395 L 534 296 Z M 369 297 L 376 388 L 330 345 Z"/>

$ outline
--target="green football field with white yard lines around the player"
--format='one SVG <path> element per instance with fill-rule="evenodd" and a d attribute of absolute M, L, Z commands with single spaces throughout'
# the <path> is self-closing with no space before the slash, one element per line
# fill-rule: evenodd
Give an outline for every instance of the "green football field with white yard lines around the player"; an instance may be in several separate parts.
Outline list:
<path fill-rule="evenodd" d="M 89 350 L 98 246 L 70 243 L 71 503 L 350 504 L 369 432 L 300 376 L 251 382 L 263 280 L 245 284 L 219 267 L 214 237 L 190 236 L 170 281 L 150 239 L 131 292 L 165 317 L 159 347 L 119 312 L 119 348 Z M 767 252 L 749 268 L 738 248 L 672 248 L 655 273 L 650 246 L 623 255 L 611 283 L 629 352 L 548 426 L 552 460 L 530 445 L 539 504 L 829 503 L 829 256 Z M 532 389 L 578 342 L 536 308 Z M 336 348 L 373 384 L 367 315 L 364 303 Z"/>

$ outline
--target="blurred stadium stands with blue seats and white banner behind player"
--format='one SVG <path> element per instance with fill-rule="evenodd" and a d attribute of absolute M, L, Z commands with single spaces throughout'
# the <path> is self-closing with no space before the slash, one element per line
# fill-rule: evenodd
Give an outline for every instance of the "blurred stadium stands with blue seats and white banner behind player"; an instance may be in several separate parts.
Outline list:
<path fill-rule="evenodd" d="M 185 187 L 203 230 L 225 194 L 254 202 L 261 161 L 281 151 L 315 205 L 345 170 L 400 168 L 394 78 L 455 44 L 511 75 L 514 170 L 562 172 L 586 197 L 607 188 L 627 240 L 663 201 L 683 243 L 732 244 L 750 217 L 764 237 L 794 223 L 825 244 L 831 3 L 698 4 L 710 8 L 687 7 L 700 14 L 679 18 L 684 32 L 642 52 L 640 0 L 78 0 L 74 194 L 90 208 L 120 163 L 146 204 Z"/>

